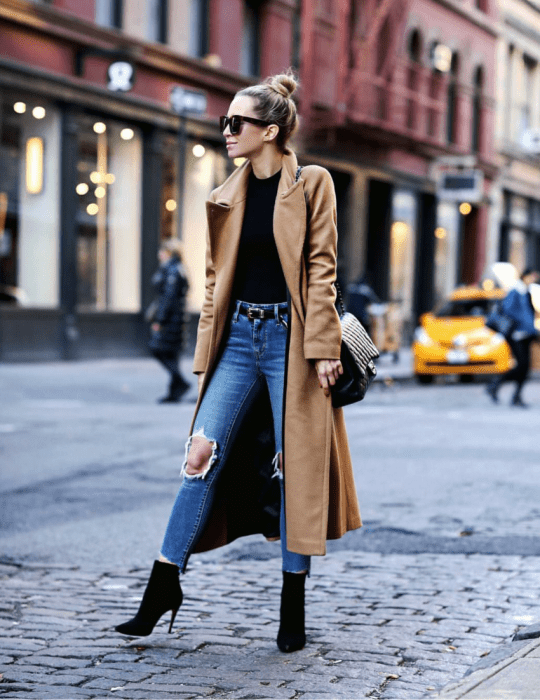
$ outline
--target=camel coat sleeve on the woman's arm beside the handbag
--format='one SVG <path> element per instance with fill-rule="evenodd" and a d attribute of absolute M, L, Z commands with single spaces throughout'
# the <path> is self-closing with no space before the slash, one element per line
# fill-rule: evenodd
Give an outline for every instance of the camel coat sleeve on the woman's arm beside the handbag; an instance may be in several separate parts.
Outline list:
<path fill-rule="evenodd" d="M 304 329 L 304 356 L 307 360 L 339 360 L 341 324 L 335 307 L 336 290 L 336 194 L 330 173 L 311 166 L 306 178 L 308 201 L 308 292 Z M 306 173 L 307 175 L 307 173 Z M 313 184 L 311 184 L 313 182 Z"/>

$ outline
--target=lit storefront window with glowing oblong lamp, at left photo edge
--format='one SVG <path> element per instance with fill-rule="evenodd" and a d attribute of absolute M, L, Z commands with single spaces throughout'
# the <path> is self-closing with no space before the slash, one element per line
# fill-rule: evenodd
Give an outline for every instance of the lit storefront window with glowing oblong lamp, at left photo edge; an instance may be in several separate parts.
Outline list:
<path fill-rule="evenodd" d="M 0 102 L 0 302 L 56 307 L 60 115 L 22 93 Z"/>

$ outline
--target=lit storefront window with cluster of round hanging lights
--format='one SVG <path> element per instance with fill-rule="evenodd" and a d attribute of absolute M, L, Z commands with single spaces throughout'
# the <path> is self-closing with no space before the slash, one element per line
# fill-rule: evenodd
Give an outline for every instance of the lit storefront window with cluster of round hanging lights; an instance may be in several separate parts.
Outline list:
<path fill-rule="evenodd" d="M 109 119 L 78 119 L 77 300 L 80 310 L 140 310 L 139 131 Z"/>

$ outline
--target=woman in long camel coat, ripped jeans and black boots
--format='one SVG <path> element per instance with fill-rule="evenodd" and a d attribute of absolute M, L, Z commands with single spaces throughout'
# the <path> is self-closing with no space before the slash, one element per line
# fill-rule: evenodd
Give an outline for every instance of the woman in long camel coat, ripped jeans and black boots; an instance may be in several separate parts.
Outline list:
<path fill-rule="evenodd" d="M 207 204 L 206 296 L 193 370 L 199 398 L 183 481 L 136 616 L 147 635 L 182 602 L 190 554 L 261 533 L 281 539 L 277 644 L 305 645 L 311 555 L 361 526 L 342 409 L 335 308 L 336 200 L 330 174 L 298 172 L 291 71 L 245 88 L 221 117 L 230 158 L 246 161 Z M 274 478 L 275 477 L 275 478 Z"/>

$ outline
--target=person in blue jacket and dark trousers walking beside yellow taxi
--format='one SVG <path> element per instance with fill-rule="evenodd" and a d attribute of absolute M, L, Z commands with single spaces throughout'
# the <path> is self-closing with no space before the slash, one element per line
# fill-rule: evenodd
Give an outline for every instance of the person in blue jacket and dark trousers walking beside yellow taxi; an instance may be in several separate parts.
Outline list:
<path fill-rule="evenodd" d="M 531 342 L 538 337 L 538 331 L 534 325 L 535 310 L 532 303 L 530 285 L 540 280 L 540 273 L 531 268 L 524 270 L 521 278 L 513 289 L 503 299 L 501 312 L 515 322 L 514 329 L 508 338 L 508 343 L 514 359 L 515 366 L 496 377 L 487 386 L 487 392 L 494 403 L 498 403 L 498 391 L 504 382 L 515 382 L 516 390 L 512 397 L 512 406 L 527 408 L 521 392 L 529 376 L 531 364 Z"/>

